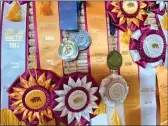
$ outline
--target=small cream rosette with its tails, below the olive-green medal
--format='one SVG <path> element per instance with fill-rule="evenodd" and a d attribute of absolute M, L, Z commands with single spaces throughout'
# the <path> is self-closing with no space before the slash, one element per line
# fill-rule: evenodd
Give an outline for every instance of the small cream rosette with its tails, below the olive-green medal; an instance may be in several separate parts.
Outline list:
<path fill-rule="evenodd" d="M 112 74 L 101 82 L 99 93 L 106 104 L 109 125 L 124 125 L 120 121 L 116 107 L 124 102 L 128 94 L 128 86 L 122 76 Z"/>

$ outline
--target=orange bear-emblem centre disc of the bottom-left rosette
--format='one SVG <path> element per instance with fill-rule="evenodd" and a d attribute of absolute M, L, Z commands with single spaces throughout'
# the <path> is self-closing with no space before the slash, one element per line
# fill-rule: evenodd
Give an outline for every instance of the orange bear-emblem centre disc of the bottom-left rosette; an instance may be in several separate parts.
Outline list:
<path fill-rule="evenodd" d="M 42 108 L 47 101 L 45 93 L 41 90 L 32 90 L 28 92 L 25 96 L 25 103 L 31 109 Z"/>

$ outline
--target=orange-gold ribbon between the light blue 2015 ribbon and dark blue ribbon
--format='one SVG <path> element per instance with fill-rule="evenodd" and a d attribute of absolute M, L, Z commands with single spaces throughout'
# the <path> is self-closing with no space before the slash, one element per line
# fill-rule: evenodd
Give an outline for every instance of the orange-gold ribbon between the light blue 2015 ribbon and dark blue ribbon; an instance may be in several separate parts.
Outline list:
<path fill-rule="evenodd" d="M 62 60 L 58 55 L 60 28 L 58 1 L 35 2 L 40 68 L 63 76 Z"/>

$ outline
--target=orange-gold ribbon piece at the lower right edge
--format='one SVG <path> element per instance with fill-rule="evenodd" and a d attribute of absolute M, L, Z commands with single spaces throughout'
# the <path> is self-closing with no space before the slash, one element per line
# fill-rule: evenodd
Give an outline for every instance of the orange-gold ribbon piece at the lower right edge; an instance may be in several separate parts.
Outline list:
<path fill-rule="evenodd" d="M 159 66 L 156 69 L 159 99 L 160 99 L 160 125 L 168 125 L 168 69 L 164 66 Z"/>

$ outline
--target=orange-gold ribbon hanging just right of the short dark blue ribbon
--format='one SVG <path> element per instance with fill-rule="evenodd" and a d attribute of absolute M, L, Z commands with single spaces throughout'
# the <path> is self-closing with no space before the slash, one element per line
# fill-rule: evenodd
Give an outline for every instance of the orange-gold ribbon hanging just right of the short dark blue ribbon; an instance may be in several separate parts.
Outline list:
<path fill-rule="evenodd" d="M 105 2 L 86 3 L 88 32 L 92 38 L 90 46 L 91 75 L 100 84 L 110 74 L 107 67 L 108 41 Z"/>

